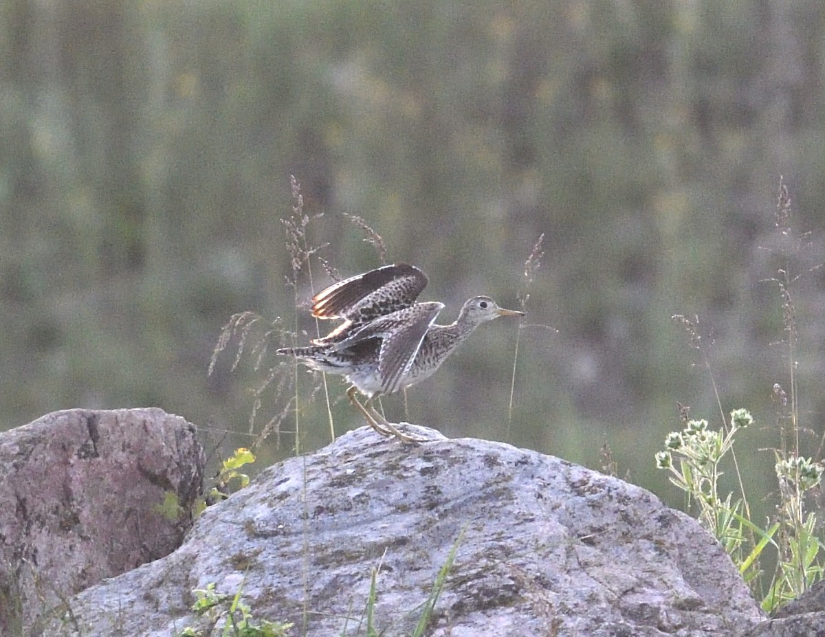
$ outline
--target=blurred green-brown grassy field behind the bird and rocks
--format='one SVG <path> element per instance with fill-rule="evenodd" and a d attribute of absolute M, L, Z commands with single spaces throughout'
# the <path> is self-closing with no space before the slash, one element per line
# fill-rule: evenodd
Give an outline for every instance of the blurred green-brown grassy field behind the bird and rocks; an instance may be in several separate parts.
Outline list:
<path fill-rule="evenodd" d="M 790 390 L 766 279 L 825 262 L 825 4 L 68 0 L 0 3 L 0 427 L 62 408 L 158 406 L 215 456 L 248 445 L 250 333 L 207 375 L 221 327 L 252 310 L 295 328 L 281 219 L 290 175 L 310 246 L 342 276 L 380 257 L 430 276 L 453 320 L 469 296 L 518 308 L 441 372 L 384 399 L 391 419 L 511 441 L 672 498 L 653 465 L 676 401 L 719 427 L 750 408 L 740 463 L 760 497 Z M 785 176 L 792 223 L 776 195 Z M 318 216 L 321 215 L 321 216 Z M 544 257 L 526 289 L 540 234 Z M 325 245 L 326 244 L 326 245 Z M 313 257 L 301 303 L 331 279 Z M 791 288 L 799 413 L 818 451 L 825 280 Z M 703 352 L 672 314 L 699 316 Z M 322 328 L 328 326 L 323 325 Z M 332 327 L 332 326 L 329 326 Z M 299 340 L 314 333 L 303 309 Z M 516 337 L 519 356 L 508 418 Z M 705 361 L 705 357 L 707 360 Z M 262 394 L 253 432 L 292 390 Z M 299 376 L 304 449 L 329 427 Z M 329 380 L 337 432 L 362 424 Z M 259 450 L 289 454 L 295 425 Z M 229 430 L 237 434 L 224 436 Z M 766 505 L 767 507 L 767 505 Z M 766 508 L 770 512 L 770 508 Z"/>

